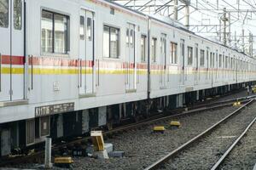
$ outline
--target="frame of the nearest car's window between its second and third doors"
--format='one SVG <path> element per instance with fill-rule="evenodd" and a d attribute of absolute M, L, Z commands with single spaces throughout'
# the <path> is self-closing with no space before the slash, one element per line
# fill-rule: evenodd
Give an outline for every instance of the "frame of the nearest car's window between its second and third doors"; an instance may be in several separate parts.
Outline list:
<path fill-rule="evenodd" d="M 108 24 L 104 24 L 103 23 L 103 31 L 102 31 L 102 34 L 103 34 L 103 36 L 102 36 L 102 42 L 103 42 L 103 45 L 102 45 L 102 47 L 104 48 L 104 28 L 105 28 L 105 26 L 106 27 L 108 27 L 108 56 L 104 56 L 104 52 L 103 52 L 103 50 L 102 50 L 102 56 L 103 56 L 103 58 L 104 59 L 120 59 L 120 28 L 119 27 L 116 27 L 116 26 L 110 26 L 110 25 L 108 25 Z M 113 57 L 111 57 L 111 29 L 115 29 L 115 30 L 117 30 L 118 31 L 118 48 L 117 48 L 117 50 L 118 50 L 118 53 L 117 53 L 117 57 L 116 58 L 113 58 Z"/>

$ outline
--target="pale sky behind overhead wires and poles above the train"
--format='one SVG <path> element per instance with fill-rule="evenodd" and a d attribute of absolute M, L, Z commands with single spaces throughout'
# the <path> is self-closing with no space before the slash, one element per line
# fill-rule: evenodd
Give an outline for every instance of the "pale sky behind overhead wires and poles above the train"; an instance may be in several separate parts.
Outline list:
<path fill-rule="evenodd" d="M 182 8 L 184 3 L 178 3 L 178 8 Z M 226 8 L 227 12 L 230 12 L 230 39 L 232 48 L 235 48 L 235 32 L 236 32 L 236 44 L 239 49 L 241 49 L 241 30 L 244 29 L 245 32 L 245 48 L 247 50 L 249 42 L 249 33 L 254 33 L 256 37 L 256 0 L 187 0 L 190 1 L 189 6 L 189 29 L 195 31 L 195 33 L 200 34 L 203 37 L 219 41 L 218 34 L 219 27 L 209 27 L 212 30 L 202 30 L 204 33 L 199 33 L 196 31 L 194 25 L 218 25 L 219 19 L 223 15 L 223 9 Z M 169 3 L 168 3 L 169 2 Z M 170 4 L 169 8 L 163 8 L 160 14 L 168 15 L 172 14 L 174 0 L 118 0 L 118 3 L 130 6 L 130 8 L 139 9 L 144 13 L 152 14 L 154 9 L 159 8 L 162 4 Z M 141 4 L 148 3 L 154 7 L 140 8 Z M 138 6 L 137 6 L 138 5 Z M 239 11 L 239 10 L 240 11 Z M 238 12 L 239 11 L 239 12 Z M 154 13 L 154 12 L 153 12 Z M 184 19 L 185 8 L 178 11 L 178 20 L 181 23 L 185 23 Z M 227 17 L 229 14 L 227 14 Z M 170 16 L 173 17 L 173 14 Z M 202 27 L 199 27 L 201 30 Z M 227 27 L 226 31 L 229 31 Z M 256 38 L 253 37 L 256 41 Z M 256 42 L 253 41 L 253 47 L 255 48 L 256 55 Z"/>

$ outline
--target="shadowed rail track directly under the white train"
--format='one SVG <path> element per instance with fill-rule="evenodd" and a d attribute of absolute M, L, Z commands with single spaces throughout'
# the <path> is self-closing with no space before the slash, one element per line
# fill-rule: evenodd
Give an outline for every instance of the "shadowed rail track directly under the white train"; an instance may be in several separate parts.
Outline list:
<path fill-rule="evenodd" d="M 245 103 L 250 98 L 253 98 L 253 96 L 241 98 L 239 100 L 241 101 L 241 103 Z M 228 99 L 228 100 L 224 100 L 224 101 L 207 103 L 205 105 L 200 105 L 200 106 L 196 105 L 193 108 L 190 108 L 190 107 L 183 108 L 183 111 L 180 111 L 178 114 L 174 114 L 174 115 L 167 115 L 167 114 L 170 114 L 170 111 L 166 111 L 162 117 L 150 117 L 148 119 L 143 120 L 142 122 L 131 123 L 129 125 L 125 125 L 125 126 L 121 126 L 121 127 L 115 127 L 112 130 L 104 132 L 103 134 L 108 136 L 108 135 L 112 135 L 113 133 L 119 133 L 122 131 L 131 130 L 131 129 L 134 129 L 137 127 L 143 127 L 144 125 L 154 124 L 157 122 L 164 122 L 164 121 L 170 120 L 171 118 L 174 118 L 177 116 L 188 116 L 190 114 L 195 114 L 200 111 L 208 111 L 208 110 L 218 109 L 221 107 L 232 105 L 234 103 L 234 101 L 236 101 L 236 100 L 237 99 Z M 59 150 L 63 147 L 67 147 L 68 144 L 80 144 L 81 142 L 83 142 L 86 139 L 90 139 L 90 137 L 84 137 L 82 139 L 75 139 L 73 141 L 67 142 L 66 144 L 55 144 L 53 147 L 53 151 L 55 152 L 55 150 Z M 44 150 L 39 150 L 39 151 L 32 153 L 31 155 L 28 155 L 28 156 L 17 156 L 15 158 L 7 158 L 5 160 L 4 159 L 0 160 L 0 167 L 6 167 L 6 166 L 17 164 L 17 163 L 21 164 L 21 163 L 30 163 L 30 162 L 42 162 L 42 160 L 44 160 Z"/>

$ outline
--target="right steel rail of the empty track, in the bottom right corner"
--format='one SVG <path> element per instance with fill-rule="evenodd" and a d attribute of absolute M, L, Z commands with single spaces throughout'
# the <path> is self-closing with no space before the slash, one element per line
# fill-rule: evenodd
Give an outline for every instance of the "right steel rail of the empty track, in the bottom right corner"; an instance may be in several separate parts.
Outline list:
<path fill-rule="evenodd" d="M 233 150 L 236 146 L 236 144 L 242 139 L 242 137 L 247 133 L 250 127 L 253 126 L 253 123 L 256 121 L 256 116 L 253 118 L 253 121 L 250 122 L 250 124 L 247 126 L 247 128 L 241 133 L 241 135 L 235 140 L 233 144 L 230 145 L 229 149 L 225 151 L 224 155 L 221 156 L 218 161 L 212 166 L 211 170 L 217 169 L 224 159 L 230 154 L 231 150 Z"/>

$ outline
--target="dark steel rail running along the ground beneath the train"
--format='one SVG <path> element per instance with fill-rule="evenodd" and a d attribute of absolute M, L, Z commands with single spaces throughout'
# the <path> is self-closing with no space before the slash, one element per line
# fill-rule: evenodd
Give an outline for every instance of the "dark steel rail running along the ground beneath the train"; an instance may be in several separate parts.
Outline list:
<path fill-rule="evenodd" d="M 211 104 L 207 104 L 207 105 L 205 105 L 201 108 L 192 109 L 192 110 L 189 110 L 189 111 L 183 111 L 182 113 L 177 113 L 177 114 L 174 114 L 174 115 L 163 116 L 163 117 L 160 117 L 160 118 L 150 117 L 146 120 L 143 120 L 142 122 L 135 122 L 135 123 L 131 123 L 129 125 L 121 126 L 121 127 L 115 127 L 111 130 L 103 132 L 103 135 L 118 133 L 118 132 L 121 132 L 121 131 L 124 131 L 124 130 L 130 130 L 130 129 L 134 129 L 134 128 L 137 128 L 137 127 L 142 127 L 143 125 L 148 125 L 150 123 L 165 121 L 165 120 L 168 120 L 170 118 L 177 117 L 177 116 L 188 116 L 190 114 L 195 114 L 195 113 L 198 113 L 198 112 L 201 112 L 201 111 L 210 111 L 210 110 L 222 108 L 222 107 L 225 107 L 225 106 L 232 105 L 234 101 L 236 101 L 236 99 L 229 99 L 229 100 L 221 101 L 221 102 L 218 102 L 218 103 L 213 103 L 212 104 L 213 106 L 211 106 Z M 244 103 L 244 102 L 247 102 L 248 99 L 244 98 L 243 100 L 240 99 L 240 101 L 241 101 L 241 103 Z M 168 111 L 166 111 L 166 112 L 168 112 Z M 53 150 L 58 150 L 61 147 L 67 146 L 67 144 L 78 144 L 79 142 L 84 141 L 84 139 L 89 139 L 89 138 L 90 137 L 84 137 L 82 139 L 74 139 L 73 141 L 68 141 L 66 144 L 60 144 L 60 145 L 55 146 L 53 148 Z M 39 150 L 36 153 L 34 153 L 32 155 L 29 155 L 29 156 L 19 156 L 19 157 L 15 157 L 13 159 L 4 160 L 6 162 L 1 161 L 1 159 L 0 159 L 0 166 L 10 165 L 14 162 L 23 162 L 23 160 L 27 161 L 27 160 L 30 160 L 29 158 L 36 157 L 36 156 L 41 156 L 43 154 L 44 154 L 44 150 Z"/>

